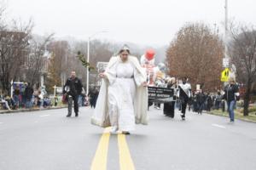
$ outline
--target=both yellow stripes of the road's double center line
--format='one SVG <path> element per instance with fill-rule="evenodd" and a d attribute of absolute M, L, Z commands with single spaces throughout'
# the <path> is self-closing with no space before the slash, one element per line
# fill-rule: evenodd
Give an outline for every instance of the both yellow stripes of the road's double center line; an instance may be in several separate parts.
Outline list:
<path fill-rule="evenodd" d="M 90 170 L 106 170 L 108 162 L 108 144 L 110 127 L 105 128 L 104 133 L 98 144 L 96 155 L 92 161 Z M 119 167 L 120 170 L 134 170 L 133 161 L 131 160 L 131 154 L 128 148 L 128 144 L 125 139 L 125 134 L 118 133 L 119 144 Z"/>

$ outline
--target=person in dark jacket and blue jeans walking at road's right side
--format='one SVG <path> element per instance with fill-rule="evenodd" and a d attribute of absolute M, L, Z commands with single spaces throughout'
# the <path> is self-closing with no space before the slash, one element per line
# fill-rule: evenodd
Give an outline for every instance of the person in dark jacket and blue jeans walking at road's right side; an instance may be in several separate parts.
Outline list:
<path fill-rule="evenodd" d="M 238 92 L 238 86 L 236 84 L 236 80 L 234 77 L 230 77 L 229 84 L 224 87 L 224 97 L 227 101 L 228 105 L 228 112 L 230 115 L 230 122 L 235 121 L 235 106 L 236 106 L 236 100 L 239 99 L 239 92 Z"/>

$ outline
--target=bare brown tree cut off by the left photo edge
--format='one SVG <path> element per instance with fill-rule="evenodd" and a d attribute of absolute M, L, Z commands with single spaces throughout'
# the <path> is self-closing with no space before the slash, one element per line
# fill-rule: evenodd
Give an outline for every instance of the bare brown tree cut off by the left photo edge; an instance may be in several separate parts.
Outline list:
<path fill-rule="evenodd" d="M 24 65 L 31 39 L 32 21 L 22 24 L 14 20 L 13 26 L 0 30 L 0 82 L 3 91 L 10 91 L 11 80 L 20 79 L 20 65 Z"/>

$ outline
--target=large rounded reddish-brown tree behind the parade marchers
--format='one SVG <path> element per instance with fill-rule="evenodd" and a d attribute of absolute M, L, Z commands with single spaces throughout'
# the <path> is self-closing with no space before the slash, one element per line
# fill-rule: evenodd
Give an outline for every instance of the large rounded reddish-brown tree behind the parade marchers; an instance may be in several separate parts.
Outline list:
<path fill-rule="evenodd" d="M 208 26 L 187 24 L 167 48 L 166 65 L 173 77 L 189 77 L 192 88 L 201 84 L 210 92 L 221 87 L 219 75 L 223 54 L 223 42 Z"/>

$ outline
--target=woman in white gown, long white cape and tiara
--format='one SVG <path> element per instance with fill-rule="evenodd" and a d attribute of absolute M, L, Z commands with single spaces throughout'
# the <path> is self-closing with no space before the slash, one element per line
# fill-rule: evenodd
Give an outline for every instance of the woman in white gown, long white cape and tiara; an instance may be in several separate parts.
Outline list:
<path fill-rule="evenodd" d="M 126 46 L 110 59 L 100 73 L 100 89 L 92 124 L 108 127 L 125 134 L 135 130 L 136 123 L 148 124 L 148 92 L 146 71 Z"/>

